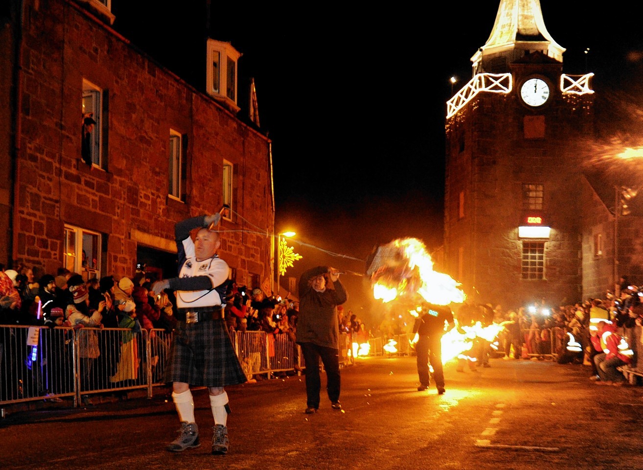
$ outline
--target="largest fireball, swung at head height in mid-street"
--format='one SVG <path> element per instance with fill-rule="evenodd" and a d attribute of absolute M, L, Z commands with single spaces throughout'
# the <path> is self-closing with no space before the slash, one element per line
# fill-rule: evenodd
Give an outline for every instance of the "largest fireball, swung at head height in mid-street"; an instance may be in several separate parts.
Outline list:
<path fill-rule="evenodd" d="M 433 271 L 431 255 L 418 239 L 397 239 L 379 246 L 367 275 L 371 277 L 374 297 L 384 303 L 417 295 L 436 305 L 462 303 L 466 298 L 459 282 Z"/>

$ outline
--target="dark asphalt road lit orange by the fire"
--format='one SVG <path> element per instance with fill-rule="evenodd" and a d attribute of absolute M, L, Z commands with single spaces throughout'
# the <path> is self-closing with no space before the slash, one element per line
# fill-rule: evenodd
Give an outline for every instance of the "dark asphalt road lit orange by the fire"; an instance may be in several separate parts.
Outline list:
<path fill-rule="evenodd" d="M 446 393 L 417 392 L 415 357 L 341 371 L 343 411 L 305 415 L 303 377 L 229 387 L 228 455 L 210 454 L 207 392 L 194 392 L 203 445 L 165 451 L 178 419 L 168 390 L 93 408 L 9 413 L 3 469 L 643 469 L 643 387 L 597 386 L 589 366 L 491 359 Z M 322 376 L 322 384 L 325 377 Z"/>

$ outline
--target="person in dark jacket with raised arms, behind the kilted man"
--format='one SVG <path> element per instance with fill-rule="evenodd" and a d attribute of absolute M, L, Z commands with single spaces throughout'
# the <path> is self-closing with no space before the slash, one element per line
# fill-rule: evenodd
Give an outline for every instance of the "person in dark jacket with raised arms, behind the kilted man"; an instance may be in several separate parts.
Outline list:
<path fill-rule="evenodd" d="M 337 306 L 348 299 L 340 273 L 329 266 L 313 267 L 299 280 L 299 316 L 295 333 L 306 363 L 306 414 L 320 407 L 320 368 L 326 370 L 328 397 L 333 410 L 340 404 L 340 326 Z"/>

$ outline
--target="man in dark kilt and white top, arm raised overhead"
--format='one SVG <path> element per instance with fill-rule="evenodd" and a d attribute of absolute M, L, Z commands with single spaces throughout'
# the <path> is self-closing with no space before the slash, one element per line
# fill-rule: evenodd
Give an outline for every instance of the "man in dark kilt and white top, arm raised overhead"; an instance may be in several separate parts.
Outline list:
<path fill-rule="evenodd" d="M 228 394 L 226 385 L 244 383 L 244 374 L 235 354 L 223 316 L 230 267 L 219 258 L 219 233 L 213 231 L 219 213 L 193 217 L 174 227 L 179 276 L 154 285 L 176 291 L 177 325 L 165 370 L 165 382 L 172 382 L 172 400 L 181 420 L 179 437 L 168 444 L 170 452 L 201 446 L 194 420 L 190 385 L 206 386 L 214 417 L 212 453 L 228 452 Z M 195 231 L 195 233 L 193 233 Z"/>

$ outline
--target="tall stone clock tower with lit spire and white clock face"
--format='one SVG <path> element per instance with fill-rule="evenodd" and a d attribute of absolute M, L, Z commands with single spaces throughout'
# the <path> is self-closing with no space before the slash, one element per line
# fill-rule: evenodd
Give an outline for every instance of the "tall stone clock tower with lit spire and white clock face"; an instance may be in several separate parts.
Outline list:
<path fill-rule="evenodd" d="M 505 309 L 581 298 L 579 155 L 591 73 L 563 73 L 538 0 L 502 0 L 447 104 L 444 271 Z"/>

